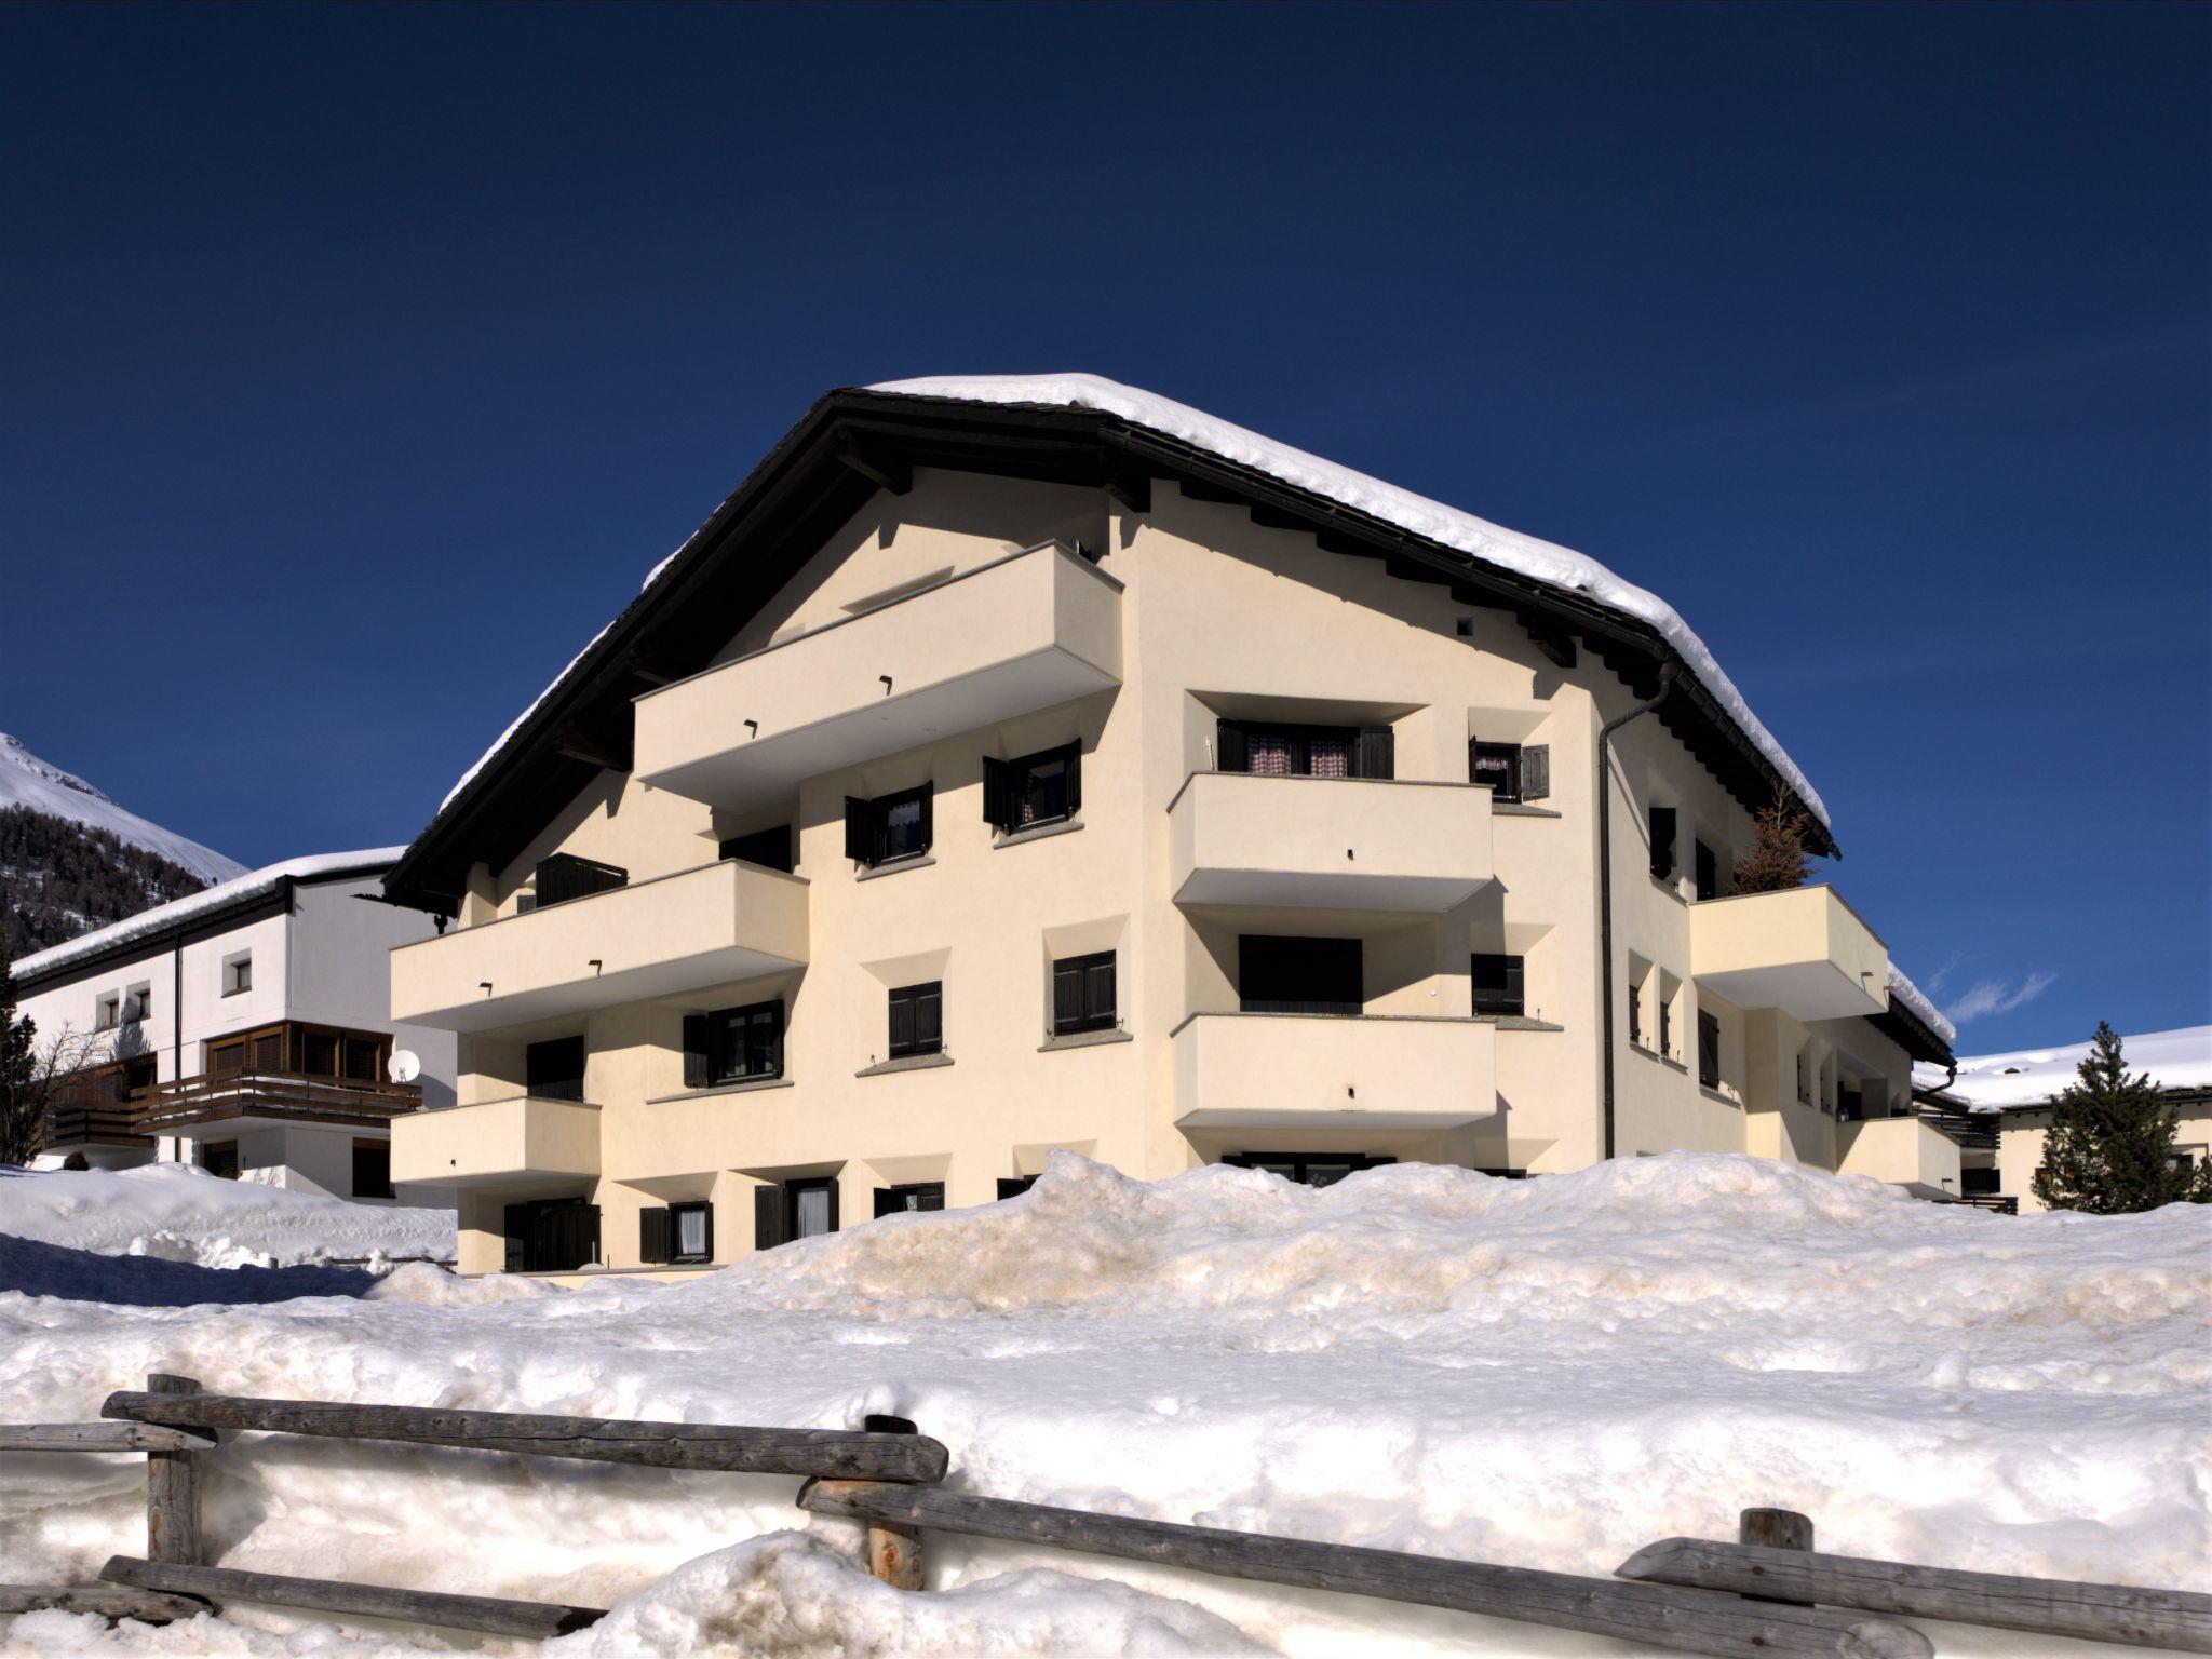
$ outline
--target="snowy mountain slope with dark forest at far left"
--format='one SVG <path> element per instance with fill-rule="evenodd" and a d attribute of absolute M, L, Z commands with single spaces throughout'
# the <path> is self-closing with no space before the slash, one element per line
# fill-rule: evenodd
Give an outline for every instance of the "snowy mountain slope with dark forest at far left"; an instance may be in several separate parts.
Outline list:
<path fill-rule="evenodd" d="M 246 867 L 115 805 L 0 732 L 0 927 L 29 956 Z"/>

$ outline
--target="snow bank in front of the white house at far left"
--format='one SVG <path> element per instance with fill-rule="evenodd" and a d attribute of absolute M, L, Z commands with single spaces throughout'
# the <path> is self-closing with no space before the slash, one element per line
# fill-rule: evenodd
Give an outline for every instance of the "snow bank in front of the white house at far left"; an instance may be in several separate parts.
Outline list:
<path fill-rule="evenodd" d="M 190 1164 L 42 1172 L 0 1166 L 0 1234 L 195 1267 L 453 1259 L 451 1210 L 347 1203 L 226 1181 Z M 0 1290 L 9 1290 L 4 1279 Z"/>

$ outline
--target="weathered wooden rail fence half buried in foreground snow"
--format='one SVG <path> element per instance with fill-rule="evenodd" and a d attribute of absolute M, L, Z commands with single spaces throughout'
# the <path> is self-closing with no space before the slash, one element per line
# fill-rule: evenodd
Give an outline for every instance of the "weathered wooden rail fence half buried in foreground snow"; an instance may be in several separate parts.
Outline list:
<path fill-rule="evenodd" d="M 1637 1551 L 1615 1577 L 1597 1579 L 945 1491 L 940 1482 L 951 1462 L 945 1447 L 900 1418 L 869 1418 L 865 1429 L 743 1429 L 252 1400 L 208 1394 L 190 1378 L 161 1374 L 146 1378 L 142 1391 L 111 1394 L 102 1422 L 0 1427 L 0 1451 L 146 1458 L 146 1555 L 113 1557 L 100 1584 L 0 1586 L 0 1615 L 64 1608 L 159 1624 L 223 1601 L 261 1601 L 533 1639 L 582 1630 L 604 1617 L 604 1608 L 555 1601 L 212 1566 L 199 1531 L 204 1460 L 221 1431 L 241 1429 L 799 1475 L 805 1482 L 799 1506 L 863 1522 L 869 1568 L 902 1590 L 922 1588 L 922 1533 L 938 1531 L 1522 1619 L 1728 1659 L 1924 1659 L 1933 1655 L 1927 1635 L 1898 1621 L 1913 1617 L 2212 1655 L 2212 1595 L 1823 1555 L 1812 1548 L 1812 1522 L 1781 1509 L 1743 1511 L 1734 1544 L 1670 1537 Z"/>

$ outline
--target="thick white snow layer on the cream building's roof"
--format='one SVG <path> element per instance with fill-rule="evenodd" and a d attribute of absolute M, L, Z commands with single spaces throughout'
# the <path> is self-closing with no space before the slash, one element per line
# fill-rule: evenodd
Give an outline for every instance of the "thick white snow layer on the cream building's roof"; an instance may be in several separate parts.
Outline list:
<path fill-rule="evenodd" d="M 1657 628 L 1690 666 L 1699 684 L 1712 692 L 1712 699 L 1728 710 L 1728 717 L 1743 728 L 1759 752 L 1790 781 L 1790 787 L 1798 792 L 1798 799 L 1805 801 L 1812 814 L 1823 825 L 1829 821 L 1820 794 L 1774 734 L 1759 723 L 1752 706 L 1736 690 L 1736 681 L 1728 677 L 1705 648 L 1705 641 L 1681 619 L 1681 613 L 1657 593 L 1621 580 L 1586 553 L 1509 531 L 1473 513 L 1462 513 L 1458 507 L 1444 507 L 1427 495 L 1416 495 L 1409 489 L 1385 484 L 1380 478 L 1340 467 L 1334 460 L 1292 449 L 1285 442 L 1237 427 L 1203 409 L 1192 409 L 1157 392 L 1106 380 L 1097 374 L 940 374 L 918 380 L 885 380 L 872 385 L 869 392 L 891 392 L 909 398 L 951 398 L 958 403 L 1097 409 L 1099 414 L 1119 416 L 1137 427 L 1194 445 L 1241 467 L 1252 467 L 1285 484 L 1327 495 L 1343 507 L 1371 513 L 1385 524 L 1396 524 L 1413 535 L 1442 542 L 1484 564 L 1533 577 L 1564 593 L 1588 595 L 1610 611 Z"/>

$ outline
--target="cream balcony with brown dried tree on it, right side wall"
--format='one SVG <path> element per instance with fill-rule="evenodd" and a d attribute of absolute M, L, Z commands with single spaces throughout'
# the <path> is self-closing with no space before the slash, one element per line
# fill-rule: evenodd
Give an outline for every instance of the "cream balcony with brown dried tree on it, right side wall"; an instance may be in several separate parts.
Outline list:
<path fill-rule="evenodd" d="M 1889 1009 L 1889 947 L 1834 887 L 1690 907 L 1690 973 L 1739 1009 L 1849 1020 Z"/>

